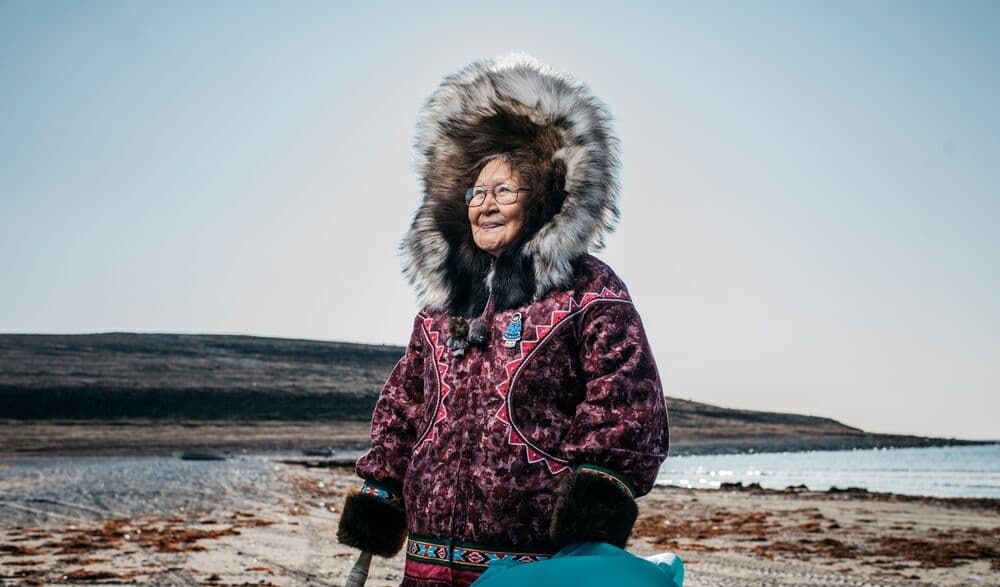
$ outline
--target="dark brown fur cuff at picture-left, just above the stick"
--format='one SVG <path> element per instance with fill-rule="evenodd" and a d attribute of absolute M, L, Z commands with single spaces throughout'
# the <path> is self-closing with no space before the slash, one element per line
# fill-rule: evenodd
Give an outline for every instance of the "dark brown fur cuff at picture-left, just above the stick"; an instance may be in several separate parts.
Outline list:
<path fill-rule="evenodd" d="M 353 490 L 344 502 L 337 540 L 363 552 L 394 556 L 406 539 L 402 506 Z"/>

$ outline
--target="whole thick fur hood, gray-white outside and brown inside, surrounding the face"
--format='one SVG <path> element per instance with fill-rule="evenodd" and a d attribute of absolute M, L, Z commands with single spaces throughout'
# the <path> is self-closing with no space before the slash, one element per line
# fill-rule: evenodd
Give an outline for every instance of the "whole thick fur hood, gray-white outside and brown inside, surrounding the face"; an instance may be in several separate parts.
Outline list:
<path fill-rule="evenodd" d="M 475 246 L 465 190 L 484 157 L 527 148 L 549 171 L 523 234 L 495 259 Z M 574 78 L 512 54 L 447 76 L 417 123 L 424 199 L 400 245 L 421 303 L 477 315 L 492 292 L 500 311 L 573 276 L 618 220 L 618 140 L 607 108 Z"/>

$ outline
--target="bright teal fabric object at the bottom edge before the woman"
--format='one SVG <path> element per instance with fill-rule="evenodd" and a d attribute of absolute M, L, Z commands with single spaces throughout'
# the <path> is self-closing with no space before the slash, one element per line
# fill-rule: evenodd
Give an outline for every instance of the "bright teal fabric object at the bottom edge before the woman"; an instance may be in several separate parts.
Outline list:
<path fill-rule="evenodd" d="M 576 542 L 536 563 L 497 560 L 473 587 L 682 587 L 680 557 L 658 554 L 644 559 L 605 542 Z"/>

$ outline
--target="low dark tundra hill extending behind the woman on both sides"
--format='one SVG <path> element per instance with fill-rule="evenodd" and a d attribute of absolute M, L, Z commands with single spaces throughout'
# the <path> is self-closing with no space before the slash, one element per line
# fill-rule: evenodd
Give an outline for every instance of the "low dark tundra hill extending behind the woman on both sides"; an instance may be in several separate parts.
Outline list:
<path fill-rule="evenodd" d="M 257 336 L 0 334 L 7 421 L 359 422 L 403 347 Z M 672 452 L 926 446 L 829 418 L 667 398 Z"/>

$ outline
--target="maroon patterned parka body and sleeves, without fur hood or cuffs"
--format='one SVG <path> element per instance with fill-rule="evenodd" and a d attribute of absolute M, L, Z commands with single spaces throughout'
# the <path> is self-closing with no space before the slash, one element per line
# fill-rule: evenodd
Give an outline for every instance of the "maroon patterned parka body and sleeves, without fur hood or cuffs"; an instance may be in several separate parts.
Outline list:
<path fill-rule="evenodd" d="M 642 321 L 606 264 L 583 255 L 573 271 L 527 305 L 488 303 L 489 340 L 461 357 L 446 347 L 446 313 L 416 316 L 357 464 L 364 492 L 405 505 L 404 585 L 466 585 L 495 558 L 551 555 L 554 490 L 574 471 L 632 498 L 652 487 L 667 412 Z"/>

